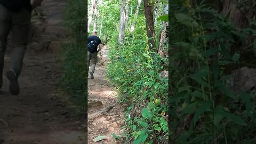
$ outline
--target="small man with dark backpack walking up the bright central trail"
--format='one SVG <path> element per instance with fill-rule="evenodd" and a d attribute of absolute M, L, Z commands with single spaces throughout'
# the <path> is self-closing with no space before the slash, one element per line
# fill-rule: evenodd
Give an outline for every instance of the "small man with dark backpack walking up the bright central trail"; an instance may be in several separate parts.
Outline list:
<path fill-rule="evenodd" d="M 102 49 L 101 39 L 96 35 L 97 35 L 97 30 L 94 29 L 92 31 L 92 36 L 88 37 L 88 42 L 87 42 L 87 52 L 88 52 L 88 54 L 87 54 L 87 74 L 89 73 L 90 62 L 92 62 L 91 71 L 90 71 L 91 79 L 94 78 L 93 73 L 95 70 L 96 63 L 97 63 L 98 52 Z M 98 49 L 98 46 L 99 46 L 99 49 Z"/>

